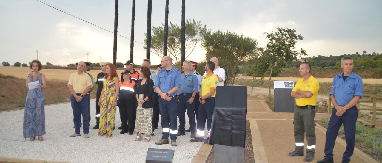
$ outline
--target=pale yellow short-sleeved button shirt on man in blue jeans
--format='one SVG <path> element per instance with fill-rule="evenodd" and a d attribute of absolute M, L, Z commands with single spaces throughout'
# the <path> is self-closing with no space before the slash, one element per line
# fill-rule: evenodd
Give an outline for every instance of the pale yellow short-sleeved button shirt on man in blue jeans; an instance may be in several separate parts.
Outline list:
<path fill-rule="evenodd" d="M 93 87 L 90 76 L 86 73 L 80 75 L 78 72 L 70 74 L 68 87 L 69 85 L 73 86 L 75 93 L 83 93 L 87 86 L 90 86 L 90 88 Z"/>

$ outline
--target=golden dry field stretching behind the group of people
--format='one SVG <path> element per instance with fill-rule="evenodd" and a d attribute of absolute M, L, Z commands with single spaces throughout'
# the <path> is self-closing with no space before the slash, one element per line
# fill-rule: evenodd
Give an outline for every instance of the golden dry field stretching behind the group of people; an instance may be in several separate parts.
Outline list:
<path fill-rule="evenodd" d="M 42 74 L 45 74 L 45 77 L 48 81 L 55 81 L 55 80 L 61 80 L 61 81 L 68 81 L 70 74 L 76 72 L 77 70 L 62 70 L 62 69 L 42 69 L 40 72 Z M 117 73 L 120 74 L 123 70 L 117 70 Z M 28 73 L 31 72 L 29 67 L 3 67 L 0 66 L 0 73 L 4 75 L 12 75 L 18 78 L 25 78 L 27 77 Z M 100 70 L 91 70 L 88 73 L 93 76 L 95 79 L 97 77 L 97 74 L 101 72 Z M 236 77 L 236 78 L 251 78 L 252 77 Z M 268 78 L 265 77 L 264 80 L 267 80 Z M 272 77 L 272 80 L 280 80 L 280 81 L 297 81 L 300 78 L 296 77 Z M 316 78 L 318 82 L 324 82 L 324 83 L 331 83 L 333 81 L 333 78 Z M 382 78 L 363 78 L 363 83 L 368 84 L 382 84 Z"/>

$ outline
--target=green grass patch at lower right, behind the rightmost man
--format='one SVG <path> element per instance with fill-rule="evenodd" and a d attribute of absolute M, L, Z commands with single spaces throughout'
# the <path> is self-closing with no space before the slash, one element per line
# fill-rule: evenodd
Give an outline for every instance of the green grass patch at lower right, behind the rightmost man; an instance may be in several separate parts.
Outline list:
<path fill-rule="evenodd" d="M 330 119 L 322 118 L 321 123 L 328 126 Z M 338 136 L 345 139 L 345 131 L 343 125 L 338 131 Z M 361 122 L 356 123 L 356 147 L 366 152 L 372 158 L 382 161 L 382 130 L 371 128 L 363 125 Z"/>

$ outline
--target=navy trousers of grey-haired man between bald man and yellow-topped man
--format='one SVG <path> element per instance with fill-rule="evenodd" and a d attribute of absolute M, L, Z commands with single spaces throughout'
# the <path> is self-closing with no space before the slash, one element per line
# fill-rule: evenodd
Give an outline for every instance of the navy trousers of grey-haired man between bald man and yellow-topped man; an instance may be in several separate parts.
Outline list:
<path fill-rule="evenodd" d="M 195 102 L 193 100 L 193 103 L 188 103 L 188 100 L 191 98 L 192 94 L 183 96 L 179 96 L 179 104 L 178 104 L 178 116 L 179 116 L 179 132 L 185 133 L 185 125 L 186 125 L 186 110 L 188 115 L 188 122 L 189 122 L 189 129 L 191 131 L 196 131 L 196 122 L 195 122 L 195 113 L 194 113 L 194 106 Z"/>

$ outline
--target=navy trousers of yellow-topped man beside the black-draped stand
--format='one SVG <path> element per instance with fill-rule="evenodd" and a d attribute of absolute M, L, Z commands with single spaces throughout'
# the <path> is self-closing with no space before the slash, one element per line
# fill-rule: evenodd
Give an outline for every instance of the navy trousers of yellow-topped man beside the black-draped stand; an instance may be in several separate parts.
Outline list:
<path fill-rule="evenodd" d="M 199 110 L 197 110 L 197 129 L 204 131 L 206 127 L 207 119 L 207 129 L 211 129 L 212 114 L 215 108 L 215 97 L 209 97 L 206 99 L 206 103 L 199 105 Z"/>

